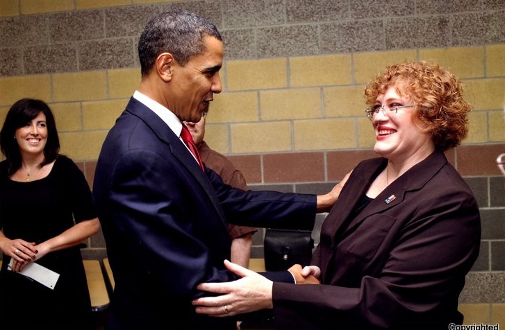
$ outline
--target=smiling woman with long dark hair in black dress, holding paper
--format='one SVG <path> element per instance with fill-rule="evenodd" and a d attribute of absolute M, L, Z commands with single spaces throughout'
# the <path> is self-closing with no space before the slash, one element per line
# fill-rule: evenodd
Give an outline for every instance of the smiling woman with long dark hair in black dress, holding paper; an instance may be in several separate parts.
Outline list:
<path fill-rule="evenodd" d="M 83 173 L 58 153 L 47 104 L 24 98 L 10 107 L 0 148 L 6 157 L 0 163 L 0 328 L 90 329 L 78 244 L 98 232 L 99 220 Z M 60 275 L 53 290 L 17 273 L 32 262 Z"/>

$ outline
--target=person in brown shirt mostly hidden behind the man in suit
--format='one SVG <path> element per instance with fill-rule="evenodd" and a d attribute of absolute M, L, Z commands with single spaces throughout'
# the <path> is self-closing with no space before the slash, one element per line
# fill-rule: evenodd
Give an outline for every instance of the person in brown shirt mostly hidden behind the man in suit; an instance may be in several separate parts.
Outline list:
<path fill-rule="evenodd" d="M 204 141 L 207 114 L 207 112 L 204 112 L 200 121 L 197 123 L 183 121 L 183 124 L 190 130 L 194 144 L 198 147 L 201 160 L 204 161 L 207 168 L 215 171 L 215 173 L 222 178 L 224 183 L 238 189 L 247 190 L 247 184 L 242 172 L 235 168 L 228 158 L 211 149 L 208 144 L 206 144 L 206 141 Z M 257 229 L 253 227 L 236 226 L 229 223 L 228 230 L 231 238 L 231 262 L 249 268 L 252 236 L 254 232 L 257 232 Z"/>

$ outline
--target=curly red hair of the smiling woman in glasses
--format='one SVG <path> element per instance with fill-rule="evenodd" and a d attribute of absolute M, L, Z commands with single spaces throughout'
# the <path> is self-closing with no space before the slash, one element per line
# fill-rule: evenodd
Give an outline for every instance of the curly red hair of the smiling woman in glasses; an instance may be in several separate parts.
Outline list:
<path fill-rule="evenodd" d="M 391 65 L 365 87 L 367 105 L 372 107 L 390 86 L 414 101 L 417 120 L 431 130 L 436 148 L 445 151 L 461 144 L 472 106 L 463 100 L 463 85 L 454 74 L 433 61 Z"/>

